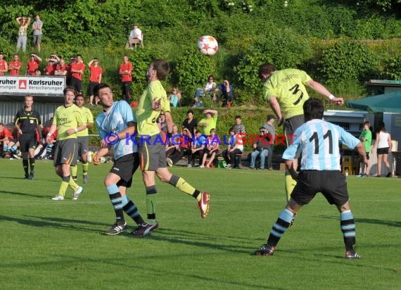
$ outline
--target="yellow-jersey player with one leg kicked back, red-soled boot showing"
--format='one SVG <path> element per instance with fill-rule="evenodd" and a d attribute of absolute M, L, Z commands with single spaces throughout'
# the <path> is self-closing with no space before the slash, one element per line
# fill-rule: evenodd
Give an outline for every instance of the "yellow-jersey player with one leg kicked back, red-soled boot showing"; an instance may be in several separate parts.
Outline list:
<path fill-rule="evenodd" d="M 196 198 L 200 208 L 200 216 L 205 218 L 209 211 L 210 195 L 205 191 L 199 191 L 186 182 L 178 175 L 172 175 L 167 168 L 165 158 L 165 147 L 160 144 L 160 130 L 154 120 L 158 117 L 159 111 L 163 109 L 166 115 L 167 128 L 169 133 L 172 131 L 172 115 L 170 113 L 170 103 L 161 80 L 164 80 L 170 73 L 170 66 L 167 61 L 158 59 L 149 65 L 148 87 L 144 91 L 136 110 L 136 121 L 138 122 L 138 137 L 146 136 L 147 142 L 139 145 L 139 156 L 141 170 L 146 187 L 146 208 L 148 211 L 148 226 L 137 229 L 132 234 L 143 236 L 158 228 L 156 221 L 156 197 L 157 189 L 155 185 L 155 174 L 161 182 L 168 182 L 185 194 Z M 149 138 L 150 137 L 150 138 Z"/>

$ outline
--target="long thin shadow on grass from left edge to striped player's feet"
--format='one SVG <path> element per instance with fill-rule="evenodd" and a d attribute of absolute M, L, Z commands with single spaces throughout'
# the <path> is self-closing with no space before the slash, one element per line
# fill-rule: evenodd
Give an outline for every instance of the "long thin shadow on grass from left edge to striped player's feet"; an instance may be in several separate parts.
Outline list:
<path fill-rule="evenodd" d="M 9 217 L 0 215 L 0 221 L 18 222 L 20 225 L 28 225 L 30 227 L 54 227 L 57 229 L 69 229 L 82 232 L 101 232 L 102 229 L 110 226 L 101 222 L 91 222 L 88 220 L 71 220 L 57 217 Z M 87 225 L 88 227 L 85 227 Z M 96 229 L 93 226 L 101 226 L 101 229 Z M 90 226 L 90 227 L 89 227 Z"/>

